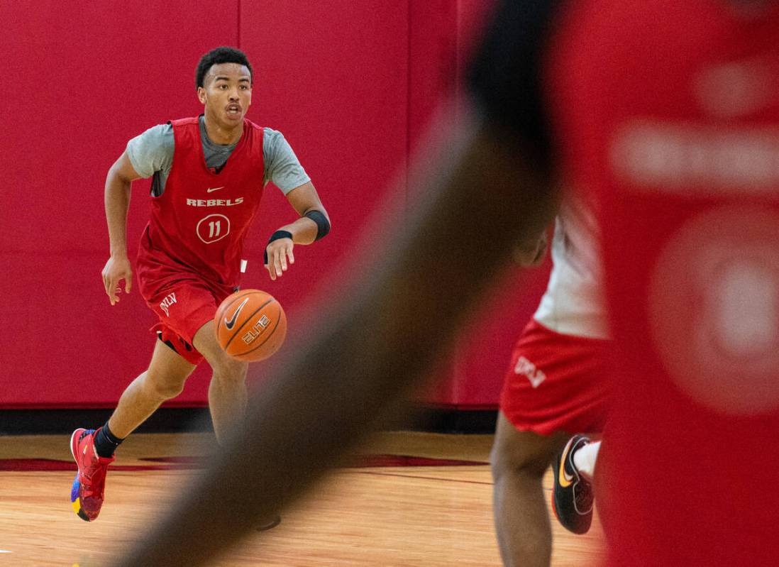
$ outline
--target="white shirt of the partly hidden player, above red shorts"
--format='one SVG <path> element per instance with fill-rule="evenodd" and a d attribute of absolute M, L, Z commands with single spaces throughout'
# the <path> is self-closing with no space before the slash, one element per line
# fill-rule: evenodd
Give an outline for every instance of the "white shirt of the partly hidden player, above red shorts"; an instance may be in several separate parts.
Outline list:
<path fill-rule="evenodd" d="M 571 199 L 563 200 L 555 219 L 552 262 L 534 319 L 557 333 L 608 338 L 597 224 L 590 210 Z"/>

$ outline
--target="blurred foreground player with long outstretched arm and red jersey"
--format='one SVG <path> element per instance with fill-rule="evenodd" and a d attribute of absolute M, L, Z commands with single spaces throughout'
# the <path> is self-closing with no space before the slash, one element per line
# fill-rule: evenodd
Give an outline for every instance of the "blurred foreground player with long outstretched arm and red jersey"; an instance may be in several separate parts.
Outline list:
<path fill-rule="evenodd" d="M 421 382 L 545 225 L 552 129 L 557 168 L 599 204 L 619 355 L 599 464 L 610 565 L 774 564 L 777 37 L 777 2 L 504 2 L 426 202 L 117 565 L 203 565 Z"/>

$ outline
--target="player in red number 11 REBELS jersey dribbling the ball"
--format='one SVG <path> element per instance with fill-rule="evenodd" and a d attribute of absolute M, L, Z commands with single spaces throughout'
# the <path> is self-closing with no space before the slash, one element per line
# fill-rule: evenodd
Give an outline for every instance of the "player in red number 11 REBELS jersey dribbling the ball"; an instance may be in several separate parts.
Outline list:
<path fill-rule="evenodd" d="M 157 314 L 157 341 L 149 368 L 122 394 L 97 431 L 76 429 L 71 450 L 79 471 L 71 501 L 78 516 L 97 518 L 105 475 L 119 444 L 160 404 L 178 396 L 204 359 L 213 369 L 209 408 L 217 440 L 246 406 L 248 363 L 233 359 L 214 335 L 217 306 L 238 289 L 245 231 L 269 181 L 284 192 L 299 218 L 279 227 L 266 247 L 272 280 L 294 262 L 294 245 L 330 230 L 311 179 L 280 132 L 245 118 L 254 75 L 234 48 L 209 51 L 197 66 L 199 117 L 154 126 L 133 138 L 108 171 L 105 208 L 111 257 L 103 269 L 111 305 L 119 283 L 132 287 L 126 219 L 132 181 L 152 177 L 151 219 L 141 238 L 136 269 L 140 293 Z M 274 522 L 275 523 L 275 522 Z"/>

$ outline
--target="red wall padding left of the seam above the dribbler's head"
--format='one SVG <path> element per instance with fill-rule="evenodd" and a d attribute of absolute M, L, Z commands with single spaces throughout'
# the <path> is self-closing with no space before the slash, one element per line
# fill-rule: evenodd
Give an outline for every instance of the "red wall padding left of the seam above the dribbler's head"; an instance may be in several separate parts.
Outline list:
<path fill-rule="evenodd" d="M 195 66 L 238 40 L 238 0 L 0 2 L 0 21 L 0 406 L 113 405 L 148 364 L 153 316 L 136 291 L 113 308 L 103 291 L 105 175 L 129 138 L 198 111 Z"/>

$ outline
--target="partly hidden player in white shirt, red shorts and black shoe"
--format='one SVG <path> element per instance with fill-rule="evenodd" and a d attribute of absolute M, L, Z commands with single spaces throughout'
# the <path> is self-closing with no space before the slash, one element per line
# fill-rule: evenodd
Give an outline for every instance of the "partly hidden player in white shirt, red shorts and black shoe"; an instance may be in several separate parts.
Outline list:
<path fill-rule="evenodd" d="M 517 340 L 500 396 L 491 463 L 495 531 L 506 565 L 549 564 L 552 530 L 541 481 L 566 444 L 566 431 L 600 432 L 607 415 L 610 344 L 597 227 L 580 200 L 573 192 L 563 199 L 548 287 Z M 523 266 L 537 259 L 519 258 Z M 566 447 L 566 458 L 588 441 L 582 437 Z M 564 480 L 555 495 L 562 525 L 586 532 L 592 519 L 589 478 Z"/>

